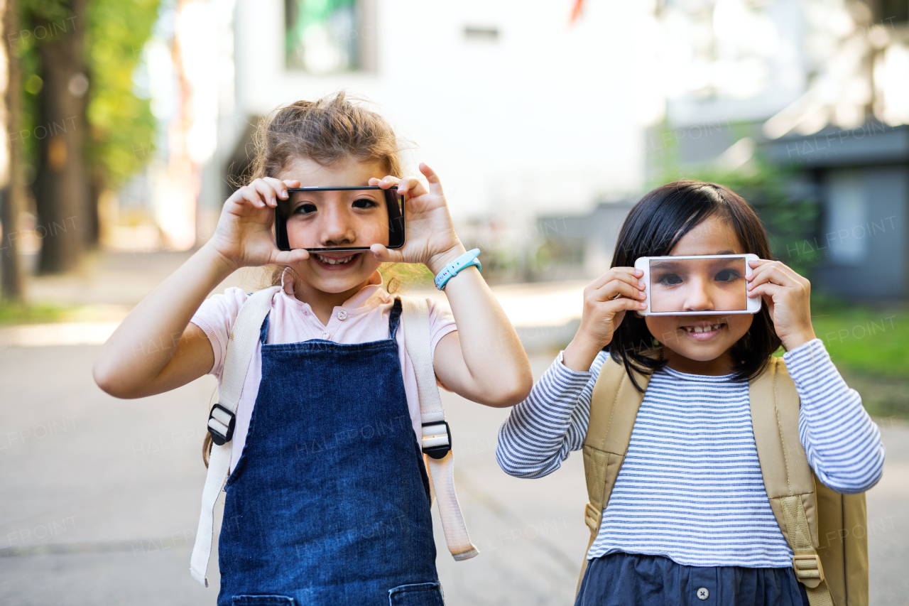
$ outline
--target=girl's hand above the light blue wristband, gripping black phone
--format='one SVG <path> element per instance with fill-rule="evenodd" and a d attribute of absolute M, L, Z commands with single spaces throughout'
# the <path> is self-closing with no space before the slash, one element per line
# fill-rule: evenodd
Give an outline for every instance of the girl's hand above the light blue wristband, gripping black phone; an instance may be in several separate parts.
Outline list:
<path fill-rule="evenodd" d="M 463 255 L 465 249 L 454 233 L 438 175 L 424 163 L 420 163 L 420 172 L 429 181 L 429 189 L 416 177 L 369 179 L 369 185 L 373 187 L 387 189 L 396 185 L 398 194 L 404 194 L 406 229 L 404 247 L 389 250 L 374 244 L 370 250 L 380 261 L 425 263 L 430 271 L 438 274 L 448 263 Z"/>

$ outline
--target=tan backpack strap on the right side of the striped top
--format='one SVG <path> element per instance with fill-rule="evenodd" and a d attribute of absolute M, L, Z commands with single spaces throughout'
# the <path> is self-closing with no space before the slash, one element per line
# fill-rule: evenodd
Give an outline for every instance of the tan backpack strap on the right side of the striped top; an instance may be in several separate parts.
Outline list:
<path fill-rule="evenodd" d="M 814 475 L 798 436 L 799 397 L 782 358 L 771 358 L 748 386 L 751 423 L 764 490 L 774 517 L 793 550 L 795 577 L 811 606 L 833 606 L 817 555 Z"/>

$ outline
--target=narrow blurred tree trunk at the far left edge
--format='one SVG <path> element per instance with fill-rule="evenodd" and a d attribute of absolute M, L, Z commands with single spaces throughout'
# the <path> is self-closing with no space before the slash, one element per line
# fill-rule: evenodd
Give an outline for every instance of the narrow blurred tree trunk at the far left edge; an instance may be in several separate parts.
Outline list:
<path fill-rule="evenodd" d="M 5 166 L 0 167 L 0 298 L 13 301 L 25 299 L 25 277 L 19 263 L 18 219 L 19 212 L 25 206 L 25 183 L 22 178 L 22 150 L 13 143 L 15 137 L 9 136 L 19 128 L 19 115 L 22 111 L 22 83 L 19 60 L 15 55 L 11 32 L 18 28 L 16 6 L 12 0 L 0 0 L 0 19 L 2 19 L 4 37 L 3 50 L 6 63 L 6 82 L 3 95 L 4 111 L 3 130 L 5 146 Z"/>

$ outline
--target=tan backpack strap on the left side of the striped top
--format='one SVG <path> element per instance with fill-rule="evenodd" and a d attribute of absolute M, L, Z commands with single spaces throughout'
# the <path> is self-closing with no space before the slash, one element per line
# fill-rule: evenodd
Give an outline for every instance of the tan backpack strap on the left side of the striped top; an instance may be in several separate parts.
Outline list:
<path fill-rule="evenodd" d="M 650 375 L 634 371 L 634 379 L 641 389 L 646 390 Z M 610 358 L 603 363 L 594 384 L 590 399 L 590 419 L 584 437 L 584 477 L 587 480 L 587 505 L 584 507 L 584 523 L 590 528 L 590 541 L 584 551 L 581 578 L 587 568 L 587 551 L 594 545 L 600 531 L 603 510 L 609 503 L 615 480 L 622 468 L 634 419 L 644 401 L 644 394 L 637 389 L 624 365 Z M 578 587 L 580 588 L 580 580 Z"/>

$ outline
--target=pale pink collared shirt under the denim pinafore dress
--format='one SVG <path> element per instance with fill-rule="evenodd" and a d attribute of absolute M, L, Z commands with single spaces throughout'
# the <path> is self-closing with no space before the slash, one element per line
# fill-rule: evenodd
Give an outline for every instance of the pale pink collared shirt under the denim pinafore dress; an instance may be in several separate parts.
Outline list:
<path fill-rule="evenodd" d="M 332 311 L 331 320 L 324 326 L 315 317 L 313 309 L 294 296 L 293 274 L 285 270 L 282 278 L 282 289 L 272 299 L 272 310 L 268 316 L 268 343 L 297 343 L 313 338 L 324 338 L 335 343 L 366 343 L 388 338 L 388 318 L 395 299 L 382 288 L 382 278 L 375 272 L 370 284 L 362 288 L 353 297 L 347 299 L 341 307 Z M 190 320 L 205 331 L 215 352 L 215 365 L 208 374 L 218 379 L 221 389 L 224 372 L 227 339 L 230 337 L 234 318 L 243 306 L 247 295 L 241 288 L 228 288 L 223 295 L 208 298 L 195 312 Z M 435 354 L 439 340 L 457 328 L 451 310 L 440 304 L 435 298 L 427 298 L 429 303 L 430 348 Z M 345 313 L 341 313 L 345 312 Z M 404 388 L 407 396 L 407 408 L 414 426 L 417 442 L 422 438 L 420 421 L 420 400 L 416 391 L 416 375 L 405 349 L 404 322 L 397 331 L 398 356 L 404 375 Z M 255 398 L 262 380 L 262 344 L 256 343 L 253 359 L 249 363 L 243 392 L 236 409 L 236 425 L 232 442 L 230 469 L 234 470 L 243 446 L 246 442 L 246 431 L 253 416 Z M 351 394 L 353 397 L 354 394 Z"/>

